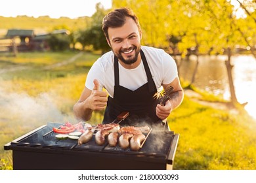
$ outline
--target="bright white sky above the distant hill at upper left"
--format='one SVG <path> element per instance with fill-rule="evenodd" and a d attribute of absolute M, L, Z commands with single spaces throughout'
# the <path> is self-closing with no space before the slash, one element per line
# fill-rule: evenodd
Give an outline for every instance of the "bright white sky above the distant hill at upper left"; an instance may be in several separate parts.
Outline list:
<path fill-rule="evenodd" d="M 101 3 L 106 9 L 112 6 L 112 0 L 7 0 L 1 2 L 0 16 L 26 15 L 35 18 L 38 16 L 51 18 L 92 16 L 96 11 L 96 3 Z"/>

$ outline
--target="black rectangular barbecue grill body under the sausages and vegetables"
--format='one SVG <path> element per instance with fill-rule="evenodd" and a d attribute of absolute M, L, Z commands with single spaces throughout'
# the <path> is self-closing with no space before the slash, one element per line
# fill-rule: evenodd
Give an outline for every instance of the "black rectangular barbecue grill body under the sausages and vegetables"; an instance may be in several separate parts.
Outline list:
<path fill-rule="evenodd" d="M 123 150 L 118 145 L 99 146 L 95 135 L 91 141 L 78 145 L 77 140 L 56 139 L 53 127 L 59 123 L 42 125 L 26 135 L 5 144 L 12 150 L 13 169 L 79 170 L 79 169 L 167 169 L 172 167 L 179 134 L 161 128 L 152 128 L 139 151 Z"/>

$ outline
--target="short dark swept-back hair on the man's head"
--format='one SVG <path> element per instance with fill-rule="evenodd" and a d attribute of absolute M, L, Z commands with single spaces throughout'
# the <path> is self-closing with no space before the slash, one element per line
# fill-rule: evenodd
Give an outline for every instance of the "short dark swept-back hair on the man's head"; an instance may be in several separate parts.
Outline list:
<path fill-rule="evenodd" d="M 115 10 L 112 10 L 109 12 L 102 20 L 102 30 L 104 31 L 104 34 L 106 38 L 108 39 L 108 28 L 116 28 L 116 27 L 121 27 L 123 24 L 125 24 L 126 18 L 131 17 L 137 24 L 139 31 L 140 29 L 140 24 L 137 16 L 131 10 L 130 8 L 117 8 Z"/>

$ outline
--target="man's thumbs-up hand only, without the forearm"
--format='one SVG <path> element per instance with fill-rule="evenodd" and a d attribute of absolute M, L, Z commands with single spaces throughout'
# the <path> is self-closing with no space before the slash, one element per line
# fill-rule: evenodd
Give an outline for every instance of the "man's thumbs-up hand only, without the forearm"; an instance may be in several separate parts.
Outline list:
<path fill-rule="evenodd" d="M 86 100 L 87 106 L 91 108 L 91 110 L 103 110 L 106 107 L 108 95 L 106 92 L 99 90 L 100 84 L 98 80 L 93 80 L 93 83 L 95 86 L 91 91 L 91 95 Z"/>

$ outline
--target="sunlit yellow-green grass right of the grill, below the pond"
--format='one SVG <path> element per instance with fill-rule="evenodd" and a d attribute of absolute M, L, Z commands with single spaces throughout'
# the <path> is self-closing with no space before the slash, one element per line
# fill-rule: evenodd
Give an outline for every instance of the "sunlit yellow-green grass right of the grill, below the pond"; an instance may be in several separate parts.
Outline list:
<path fill-rule="evenodd" d="M 256 169 L 256 122 L 185 97 L 169 118 L 180 134 L 174 169 Z"/>

